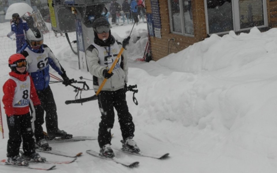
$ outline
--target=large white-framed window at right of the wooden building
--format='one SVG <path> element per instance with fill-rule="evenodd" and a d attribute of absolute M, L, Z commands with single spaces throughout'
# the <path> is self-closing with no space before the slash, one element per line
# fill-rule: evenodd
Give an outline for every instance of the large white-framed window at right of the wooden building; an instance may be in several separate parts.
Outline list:
<path fill-rule="evenodd" d="M 205 0 L 207 33 L 266 27 L 266 0 Z"/>

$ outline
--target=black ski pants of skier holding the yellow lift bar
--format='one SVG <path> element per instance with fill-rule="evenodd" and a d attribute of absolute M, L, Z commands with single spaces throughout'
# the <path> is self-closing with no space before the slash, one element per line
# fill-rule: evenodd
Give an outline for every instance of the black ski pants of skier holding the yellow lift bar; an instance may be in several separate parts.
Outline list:
<path fill-rule="evenodd" d="M 98 143 L 100 148 L 106 144 L 111 144 L 111 129 L 115 122 L 115 112 L 117 111 L 118 122 L 123 140 L 134 136 L 135 125 L 132 115 L 129 113 L 126 93 L 124 89 L 117 91 L 101 91 L 98 95 L 98 105 L 101 112 L 101 122 L 98 129 Z"/>

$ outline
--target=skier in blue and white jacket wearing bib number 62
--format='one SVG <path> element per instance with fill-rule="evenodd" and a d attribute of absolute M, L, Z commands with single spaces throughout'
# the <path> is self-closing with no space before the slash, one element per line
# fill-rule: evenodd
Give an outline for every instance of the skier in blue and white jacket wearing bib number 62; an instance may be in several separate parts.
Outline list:
<path fill-rule="evenodd" d="M 26 57 L 28 63 L 27 72 L 33 79 L 35 89 L 40 99 L 41 105 L 46 112 L 45 122 L 49 139 L 60 137 L 63 139 L 72 138 L 71 134 L 66 133 L 58 128 L 57 107 L 53 97 L 53 93 L 49 86 L 50 66 L 58 72 L 63 78 L 63 84 L 68 86 L 74 82 L 65 74 L 65 70 L 55 58 L 50 48 L 43 44 L 43 34 L 38 28 L 30 28 L 26 33 L 27 43 L 23 45 L 20 53 Z M 44 115 L 43 115 L 44 116 Z M 44 118 L 37 117 L 34 122 L 36 128 L 41 128 Z M 41 134 L 38 134 L 38 136 Z"/>

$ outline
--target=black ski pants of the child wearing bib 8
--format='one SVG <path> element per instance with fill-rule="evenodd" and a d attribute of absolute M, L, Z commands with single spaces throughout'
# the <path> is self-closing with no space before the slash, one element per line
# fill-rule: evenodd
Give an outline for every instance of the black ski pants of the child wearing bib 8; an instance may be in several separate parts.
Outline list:
<path fill-rule="evenodd" d="M 30 113 L 7 116 L 7 123 L 9 129 L 7 157 L 19 155 L 21 142 L 23 142 L 22 146 L 25 155 L 35 153 L 35 140 L 33 139 L 34 133 L 31 126 Z"/>

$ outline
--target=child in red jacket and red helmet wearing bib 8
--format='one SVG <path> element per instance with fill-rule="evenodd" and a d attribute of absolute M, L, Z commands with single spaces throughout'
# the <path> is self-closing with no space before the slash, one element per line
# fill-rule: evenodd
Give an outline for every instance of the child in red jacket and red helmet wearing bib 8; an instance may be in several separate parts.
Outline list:
<path fill-rule="evenodd" d="M 32 78 L 26 72 L 26 59 L 22 54 L 10 56 L 10 78 L 3 85 L 3 104 L 7 115 L 9 139 L 7 162 L 13 165 L 26 166 L 28 161 L 44 162 L 46 159 L 35 152 L 35 141 L 29 112 L 30 99 L 37 110 L 43 110 L 35 91 Z M 21 139 L 22 138 L 22 139 Z M 19 155 L 21 142 L 24 157 Z"/>

